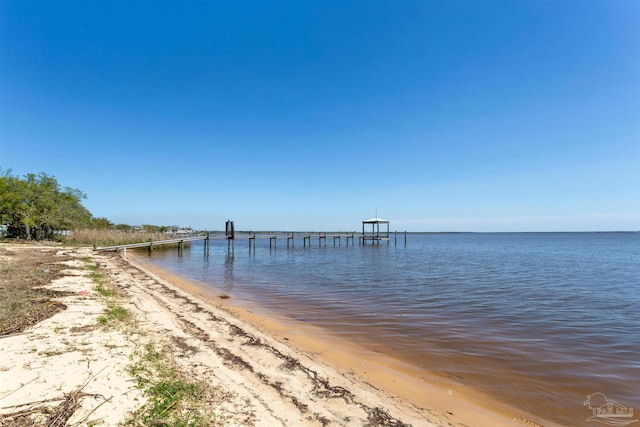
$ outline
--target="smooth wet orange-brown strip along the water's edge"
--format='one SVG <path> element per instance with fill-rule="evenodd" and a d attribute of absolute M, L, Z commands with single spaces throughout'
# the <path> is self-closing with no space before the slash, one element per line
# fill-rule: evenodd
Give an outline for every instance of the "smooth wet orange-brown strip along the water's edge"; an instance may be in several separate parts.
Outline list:
<path fill-rule="evenodd" d="M 447 372 L 426 371 L 412 363 L 411 355 L 398 355 L 395 345 L 386 346 L 367 340 L 371 333 L 366 330 L 350 336 L 336 334 L 286 317 L 255 302 L 226 298 L 222 290 L 213 290 L 210 286 L 204 287 L 197 282 L 187 281 L 151 265 L 143 257 L 135 257 L 135 261 L 186 291 L 252 323 L 269 335 L 293 344 L 302 351 L 418 407 L 455 413 L 459 422 L 466 425 L 559 425 L 506 405 Z M 333 321 L 339 323 L 339 319 L 334 318 Z M 440 356 L 434 353 L 433 357 L 435 361 Z M 461 356 L 461 359 L 464 357 Z M 424 360 L 421 362 L 424 365 Z M 465 375 L 466 379 L 477 371 L 476 362 L 472 358 L 468 360 L 469 372 Z M 455 363 L 464 364 L 465 360 L 456 360 Z M 516 377 L 514 381 L 517 382 Z"/>

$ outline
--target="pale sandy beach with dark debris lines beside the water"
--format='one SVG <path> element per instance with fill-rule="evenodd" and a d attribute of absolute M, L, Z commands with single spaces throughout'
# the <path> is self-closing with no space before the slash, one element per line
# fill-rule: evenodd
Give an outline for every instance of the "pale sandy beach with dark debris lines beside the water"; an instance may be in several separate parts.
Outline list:
<path fill-rule="evenodd" d="M 276 319 L 201 295 L 130 255 L 0 246 L 55 251 L 65 274 L 48 287 L 66 291 L 60 298 L 65 310 L 0 337 L 0 417 L 75 392 L 81 401 L 65 425 L 123 424 L 146 399 L 127 367 L 141 346 L 156 342 L 172 349 L 180 370 L 217 390 L 216 425 L 537 425 L 507 409 L 487 408 L 469 391 L 392 370 L 393 361 L 359 359 L 348 343 L 328 348 Z M 128 326 L 100 327 L 105 303 L 83 268 L 87 260 L 124 295 L 121 304 L 134 319 Z M 12 262 L 11 256 L 0 262 Z"/>

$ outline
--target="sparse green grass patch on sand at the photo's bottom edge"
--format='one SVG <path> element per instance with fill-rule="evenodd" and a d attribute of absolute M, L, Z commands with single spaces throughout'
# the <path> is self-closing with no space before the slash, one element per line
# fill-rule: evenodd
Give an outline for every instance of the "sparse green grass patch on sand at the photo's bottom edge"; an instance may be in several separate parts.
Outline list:
<path fill-rule="evenodd" d="M 207 402 L 212 399 L 210 388 L 186 378 L 172 363 L 166 350 L 149 343 L 136 359 L 128 372 L 148 402 L 133 414 L 129 425 L 186 427 L 215 424 L 215 414 L 207 410 Z"/>

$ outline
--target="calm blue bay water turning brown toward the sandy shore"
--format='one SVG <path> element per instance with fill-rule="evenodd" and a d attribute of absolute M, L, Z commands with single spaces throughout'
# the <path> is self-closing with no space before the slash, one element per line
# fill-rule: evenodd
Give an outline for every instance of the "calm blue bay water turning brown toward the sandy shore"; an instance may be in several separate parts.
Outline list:
<path fill-rule="evenodd" d="M 202 242 L 150 262 L 566 425 L 640 408 L 640 233 L 409 234 L 407 245 Z M 635 417 L 638 418 L 638 417 Z"/>

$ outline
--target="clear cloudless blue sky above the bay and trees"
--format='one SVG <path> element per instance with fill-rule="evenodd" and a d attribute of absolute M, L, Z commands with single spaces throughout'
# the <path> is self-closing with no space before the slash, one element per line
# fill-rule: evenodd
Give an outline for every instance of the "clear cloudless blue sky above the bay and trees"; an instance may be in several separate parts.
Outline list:
<path fill-rule="evenodd" d="M 0 0 L 0 167 L 115 223 L 640 230 L 640 1 Z"/>

